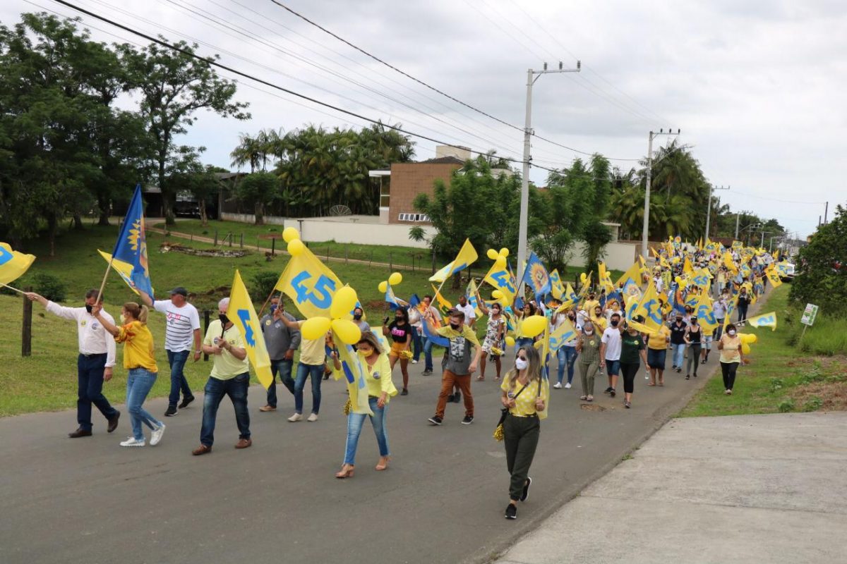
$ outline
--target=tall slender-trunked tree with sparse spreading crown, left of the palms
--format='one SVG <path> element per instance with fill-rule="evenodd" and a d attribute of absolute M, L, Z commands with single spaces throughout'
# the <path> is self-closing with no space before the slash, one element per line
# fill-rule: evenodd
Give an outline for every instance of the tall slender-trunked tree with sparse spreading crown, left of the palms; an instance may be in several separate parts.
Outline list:
<path fill-rule="evenodd" d="M 243 112 L 245 102 L 232 101 L 235 82 L 221 79 L 206 59 L 194 56 L 197 44 L 175 44 L 180 51 L 144 47 L 140 52 L 122 46 L 130 70 L 139 80 L 141 114 L 152 135 L 157 178 L 162 189 L 165 222 L 174 225 L 174 192 L 167 188 L 166 166 L 176 145 L 174 137 L 184 134 L 197 119 L 197 111 L 206 109 L 224 118 L 249 119 Z M 217 60 L 218 55 L 214 56 Z"/>

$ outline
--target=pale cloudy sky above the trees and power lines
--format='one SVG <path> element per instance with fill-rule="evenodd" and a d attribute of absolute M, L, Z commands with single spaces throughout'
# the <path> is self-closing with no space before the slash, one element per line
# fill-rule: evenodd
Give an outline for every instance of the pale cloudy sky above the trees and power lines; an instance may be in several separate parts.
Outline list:
<path fill-rule="evenodd" d="M 571 0 L 280 0 L 407 74 L 501 119 L 495 122 L 368 59 L 271 0 L 76 0 L 80 7 L 170 40 L 201 43 L 221 61 L 368 118 L 476 151 L 520 159 L 527 68 L 562 61 L 579 74 L 535 85 L 533 126 L 548 140 L 620 159 L 646 155 L 648 132 L 681 129 L 706 177 L 734 211 L 776 217 L 805 235 L 829 200 L 844 204 L 847 3 L 809 0 L 574 2 Z M 3 23 L 51 0 L 5 0 Z M 83 17 L 102 41 L 145 41 Z M 111 35 L 110 35 L 111 34 Z M 227 75 L 226 73 L 222 73 Z M 230 165 L 239 133 L 363 122 L 240 80 L 252 119 L 202 113 L 180 142 Z M 131 102 L 128 102 L 131 103 Z M 658 142 L 667 142 L 659 138 Z M 435 143 L 418 140 L 419 159 Z M 578 153 L 535 140 L 533 160 L 567 166 Z M 531 178 L 544 182 L 546 171 Z"/>

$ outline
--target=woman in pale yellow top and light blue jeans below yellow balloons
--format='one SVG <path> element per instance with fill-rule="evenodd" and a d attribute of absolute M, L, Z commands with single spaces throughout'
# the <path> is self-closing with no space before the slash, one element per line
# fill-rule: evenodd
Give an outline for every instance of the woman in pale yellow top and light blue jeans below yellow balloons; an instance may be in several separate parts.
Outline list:
<path fill-rule="evenodd" d="M 344 452 L 344 464 L 335 478 L 352 478 L 353 468 L 356 465 L 356 450 L 359 445 L 359 435 L 362 433 L 362 424 L 369 417 L 374 426 L 376 444 L 379 446 L 379 462 L 374 470 L 385 470 L 388 468 L 390 451 L 388 450 L 388 431 L 385 430 L 385 415 L 388 411 L 388 402 L 391 396 L 397 395 L 394 382 L 391 381 L 391 364 L 388 355 L 379 344 L 379 340 L 371 331 L 364 331 L 356 345 L 357 354 L 362 359 L 365 369 L 365 381 L 368 384 L 368 405 L 373 415 L 366 413 L 355 413 L 353 409 L 347 415 L 347 445 Z M 333 352 L 332 360 L 335 370 L 341 370 L 338 355 Z M 356 405 L 356 397 L 351 395 L 350 401 Z"/>

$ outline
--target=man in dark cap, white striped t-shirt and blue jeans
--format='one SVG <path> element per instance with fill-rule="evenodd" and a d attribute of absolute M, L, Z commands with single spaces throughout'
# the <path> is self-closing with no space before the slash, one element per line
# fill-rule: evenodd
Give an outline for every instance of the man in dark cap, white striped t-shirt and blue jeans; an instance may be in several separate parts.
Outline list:
<path fill-rule="evenodd" d="M 194 344 L 194 362 L 200 359 L 200 314 L 197 308 L 186 301 L 188 291 L 184 287 L 174 287 L 170 291 L 170 299 L 158 299 L 153 301 L 147 293 L 141 292 L 144 303 L 156 311 L 161 311 L 167 317 L 164 331 L 164 349 L 168 353 L 168 364 L 170 364 L 170 395 L 168 397 L 168 410 L 164 412 L 166 417 L 176 415 L 176 404 L 180 401 L 180 390 L 182 391 L 182 403 L 180 409 L 184 409 L 194 401 L 188 381 L 185 380 L 183 368 L 188 356 L 191 354 L 191 344 Z"/>

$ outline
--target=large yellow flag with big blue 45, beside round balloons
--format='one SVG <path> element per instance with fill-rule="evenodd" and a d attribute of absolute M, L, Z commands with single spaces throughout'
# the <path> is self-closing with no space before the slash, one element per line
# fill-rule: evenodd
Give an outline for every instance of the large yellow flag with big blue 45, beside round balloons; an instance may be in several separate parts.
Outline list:
<path fill-rule="evenodd" d="M 292 256 L 274 289 L 285 293 L 306 317 L 329 317 L 335 291 L 342 286 L 335 272 L 318 260 L 308 247 Z"/>

